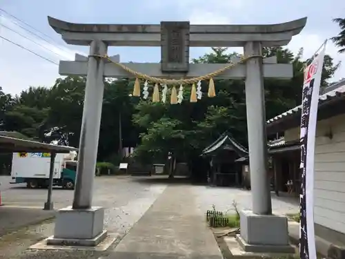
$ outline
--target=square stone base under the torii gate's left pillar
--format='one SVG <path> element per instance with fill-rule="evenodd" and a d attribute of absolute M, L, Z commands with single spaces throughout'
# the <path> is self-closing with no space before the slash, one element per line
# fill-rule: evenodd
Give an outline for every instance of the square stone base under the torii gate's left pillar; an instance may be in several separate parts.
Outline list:
<path fill-rule="evenodd" d="M 47 244 L 96 246 L 107 236 L 103 230 L 104 209 L 60 209 L 55 221 L 54 236 L 48 238 Z"/>

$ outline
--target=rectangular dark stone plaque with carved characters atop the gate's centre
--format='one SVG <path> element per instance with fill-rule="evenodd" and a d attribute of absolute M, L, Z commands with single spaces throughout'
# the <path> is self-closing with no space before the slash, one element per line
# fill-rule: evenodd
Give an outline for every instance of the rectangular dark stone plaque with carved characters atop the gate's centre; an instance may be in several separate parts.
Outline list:
<path fill-rule="evenodd" d="M 188 72 L 189 21 L 161 21 L 161 70 Z"/>

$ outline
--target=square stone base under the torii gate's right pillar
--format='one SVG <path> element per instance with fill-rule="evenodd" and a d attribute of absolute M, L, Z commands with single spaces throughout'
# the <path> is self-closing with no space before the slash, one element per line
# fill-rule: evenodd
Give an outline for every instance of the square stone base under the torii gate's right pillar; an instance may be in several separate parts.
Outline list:
<path fill-rule="evenodd" d="M 288 219 L 284 216 L 244 210 L 240 212 L 240 226 L 236 239 L 246 252 L 295 253 L 288 242 Z"/>

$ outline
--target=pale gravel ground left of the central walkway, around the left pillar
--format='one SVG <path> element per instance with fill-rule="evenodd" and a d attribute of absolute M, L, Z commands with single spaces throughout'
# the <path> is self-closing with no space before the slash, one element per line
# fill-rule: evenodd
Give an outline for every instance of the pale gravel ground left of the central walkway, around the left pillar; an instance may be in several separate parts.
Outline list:
<path fill-rule="evenodd" d="M 106 209 L 104 224 L 109 233 L 124 236 L 153 202 L 166 189 L 166 184 L 152 184 L 133 180 L 130 177 L 96 178 L 93 204 Z M 55 189 L 55 207 L 66 207 L 72 203 L 72 192 Z M 12 188 L 3 191 L 7 204 L 30 204 L 40 206 L 46 199 L 46 190 Z M 31 198 L 31 199 L 30 199 Z M 1 259 L 55 259 L 55 258 L 99 258 L 99 252 L 86 251 L 25 251 L 31 244 L 52 236 L 54 222 L 44 222 L 0 238 Z"/>

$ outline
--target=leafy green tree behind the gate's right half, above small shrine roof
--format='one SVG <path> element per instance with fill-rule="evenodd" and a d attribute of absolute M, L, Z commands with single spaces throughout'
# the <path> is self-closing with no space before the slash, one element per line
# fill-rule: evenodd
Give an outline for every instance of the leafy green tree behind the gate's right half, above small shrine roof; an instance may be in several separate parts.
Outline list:
<path fill-rule="evenodd" d="M 303 84 L 303 49 L 297 55 L 287 48 L 264 48 L 264 57 L 277 56 L 280 64 L 293 64 L 292 79 L 265 79 L 266 118 L 274 117 L 300 104 Z M 212 48 L 194 63 L 229 63 L 235 52 L 227 48 Z M 326 55 L 322 80 L 326 84 L 337 69 L 333 59 Z M 188 160 L 198 156 L 202 149 L 221 133 L 229 131 L 235 139 L 247 143 L 246 96 L 244 80 L 215 80 L 217 97 L 204 97 L 197 103 L 188 102 L 190 87 L 184 91 L 185 101 L 179 105 L 141 100 L 133 115 L 133 122 L 141 128 L 141 142 L 136 155 L 148 161 L 164 159 L 172 153 L 177 160 Z M 207 93 L 208 84 L 201 88 Z"/>

